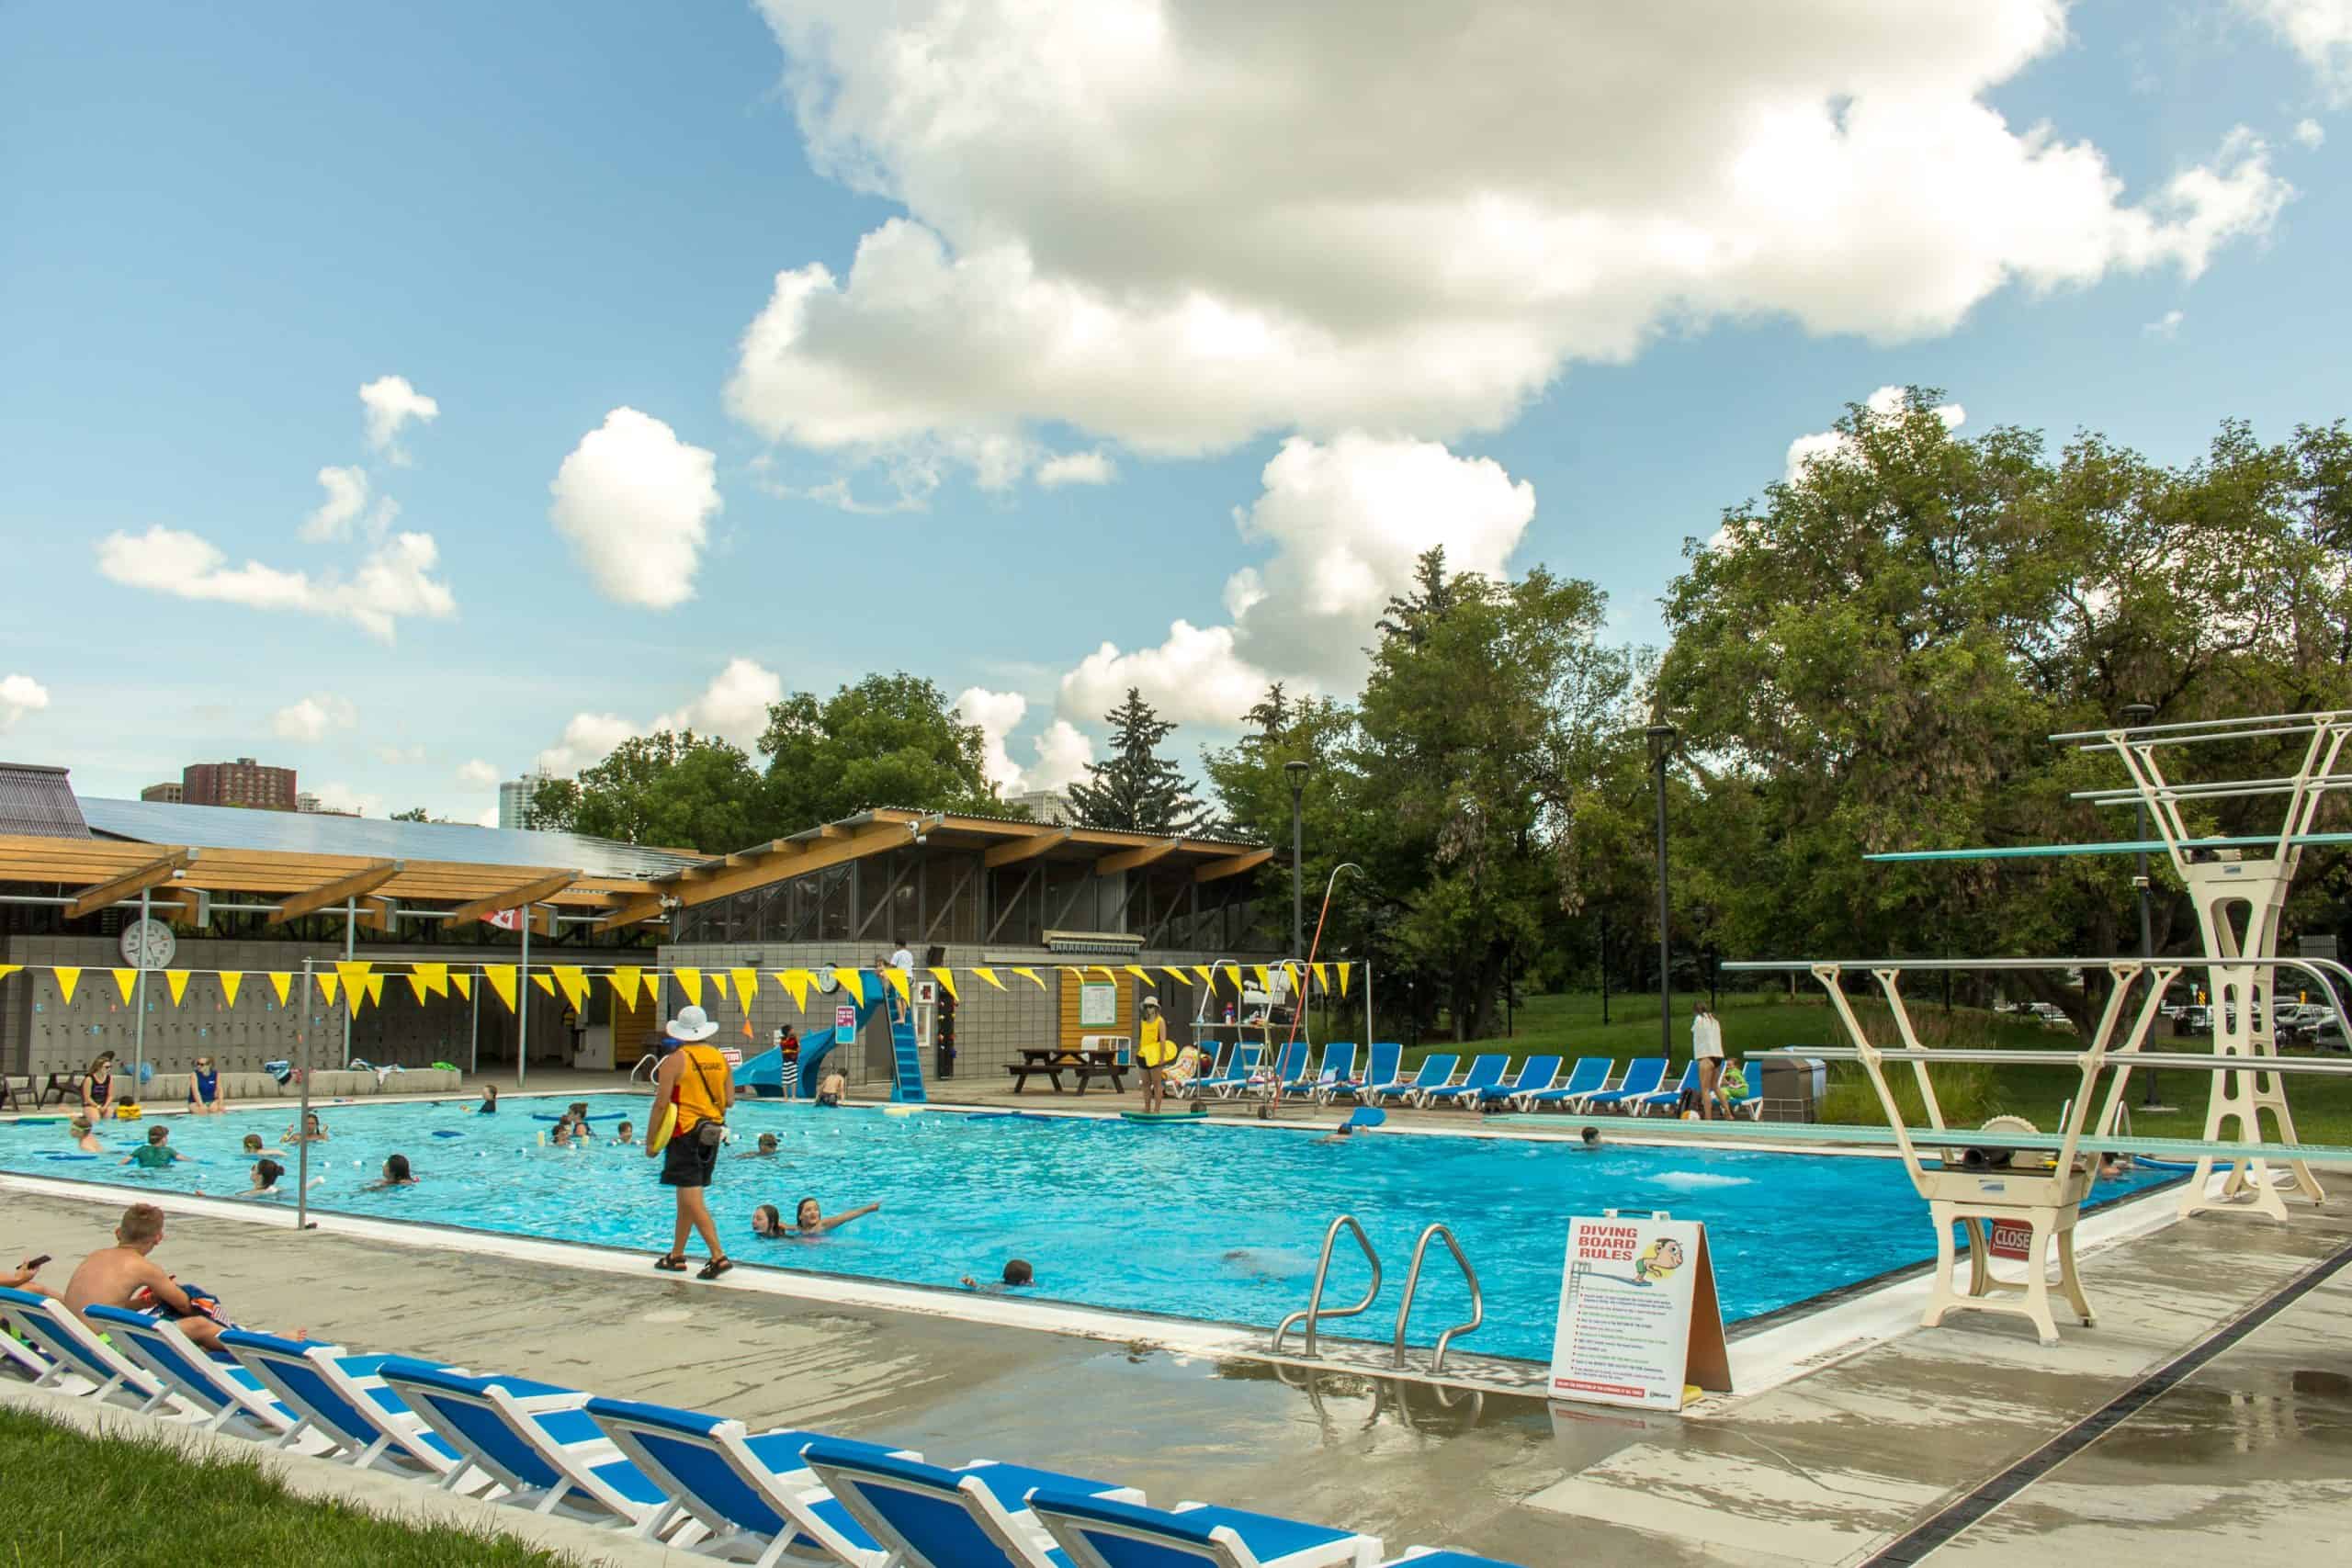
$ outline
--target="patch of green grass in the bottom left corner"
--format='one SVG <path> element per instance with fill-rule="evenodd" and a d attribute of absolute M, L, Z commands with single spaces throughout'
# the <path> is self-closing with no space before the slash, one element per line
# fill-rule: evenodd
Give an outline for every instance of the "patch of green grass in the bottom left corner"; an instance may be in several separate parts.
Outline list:
<path fill-rule="evenodd" d="M 261 1458 L 186 1453 L 0 1410 L 0 1563 L 367 1563 L 569 1568 L 513 1535 L 407 1528 L 343 1502 L 294 1497 Z"/>

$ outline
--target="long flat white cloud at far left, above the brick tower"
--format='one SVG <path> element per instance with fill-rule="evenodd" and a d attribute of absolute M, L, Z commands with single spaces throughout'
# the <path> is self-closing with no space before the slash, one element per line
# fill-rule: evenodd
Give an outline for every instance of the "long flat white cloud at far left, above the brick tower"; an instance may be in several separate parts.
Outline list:
<path fill-rule="evenodd" d="M 127 588 L 350 621 L 379 642 L 393 642 L 402 618 L 447 621 L 456 614 L 456 595 L 433 576 L 437 564 L 440 548 L 430 534 L 395 534 L 350 578 L 282 571 L 254 559 L 230 567 L 209 538 L 162 524 L 99 541 L 99 574 Z"/>

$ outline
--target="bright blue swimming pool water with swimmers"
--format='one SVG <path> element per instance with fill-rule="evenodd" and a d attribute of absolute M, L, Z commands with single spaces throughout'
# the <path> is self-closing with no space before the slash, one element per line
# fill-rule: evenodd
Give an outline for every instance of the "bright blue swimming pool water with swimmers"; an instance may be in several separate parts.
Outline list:
<path fill-rule="evenodd" d="M 602 1135 L 621 1117 L 644 1121 L 642 1095 L 595 1095 Z M 536 1140 L 560 1100 L 510 1098 L 499 1117 L 468 1103 L 327 1105 L 332 1143 L 313 1147 L 315 1208 L 426 1220 L 520 1237 L 644 1248 L 668 1246 L 670 1194 L 642 1150 L 550 1150 Z M 125 1187 L 235 1194 L 249 1161 L 247 1131 L 275 1140 L 292 1112 L 172 1117 L 172 1145 L 202 1164 L 169 1171 L 120 1166 L 146 1128 L 108 1138 L 103 1159 L 66 1161 L 64 1126 L 0 1126 L 0 1168 Z M 720 1157 L 710 1187 L 727 1248 L 741 1265 L 863 1274 L 953 1288 L 995 1279 L 1007 1258 L 1037 1269 L 1035 1295 L 1124 1312 L 1171 1312 L 1272 1328 L 1305 1305 L 1324 1227 L 1355 1213 L 1381 1248 L 1378 1305 L 1341 1331 L 1388 1338 L 1414 1239 L 1430 1220 L 1461 1237 L 1486 1291 L 1486 1326 L 1461 1340 L 1486 1354 L 1550 1354 L 1566 1218 L 1668 1208 L 1705 1220 L 1724 1316 L 1743 1319 L 1823 1291 L 1933 1258 L 1926 1204 L 1891 1159 L 1703 1152 L 1686 1147 L 1583 1150 L 1508 1138 L 1359 1135 L 1261 1126 L 1155 1128 L 1096 1119 L 1025 1119 L 809 1105 L 739 1105 L 743 1135 Z M 774 1159 L 739 1159 L 753 1135 L 776 1133 Z M 456 1133 L 437 1135 L 437 1133 Z M 362 1192 L 386 1154 L 407 1154 L 421 1185 Z M 292 1154 L 285 1157 L 292 1187 Z M 2100 1197 L 2164 1180 L 2143 1173 L 2100 1185 Z M 786 1215 L 802 1197 L 826 1213 L 882 1204 L 821 1241 L 762 1241 L 757 1204 Z M 701 1244 L 694 1246 L 701 1253 Z M 1442 1253 L 1444 1248 L 1437 1248 Z M 1367 1269 L 1343 1239 L 1327 1302 L 1352 1302 Z M 1416 1345 L 1468 1314 L 1451 1260 L 1432 1255 L 1414 1307 Z"/>

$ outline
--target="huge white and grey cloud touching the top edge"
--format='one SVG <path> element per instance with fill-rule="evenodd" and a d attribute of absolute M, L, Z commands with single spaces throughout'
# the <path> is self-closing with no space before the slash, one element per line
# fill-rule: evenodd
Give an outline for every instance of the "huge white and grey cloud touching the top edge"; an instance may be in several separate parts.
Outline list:
<path fill-rule="evenodd" d="M 2291 195 L 2244 132 L 2129 190 L 2011 125 L 2063 0 L 760 9 L 816 167 L 903 216 L 776 275 L 729 407 L 851 461 L 1451 440 L 1670 327 L 1900 341 L 2194 277 Z"/>

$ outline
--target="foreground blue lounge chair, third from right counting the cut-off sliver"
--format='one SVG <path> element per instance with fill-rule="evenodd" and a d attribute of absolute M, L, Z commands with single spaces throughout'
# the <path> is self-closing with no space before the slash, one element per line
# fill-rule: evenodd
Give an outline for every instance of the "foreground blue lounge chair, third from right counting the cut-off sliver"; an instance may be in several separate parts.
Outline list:
<path fill-rule="evenodd" d="M 1134 1488 L 1025 1465 L 941 1469 L 866 1453 L 851 1443 L 809 1443 L 809 1469 L 849 1516 L 882 1542 L 891 1568 L 1068 1568 L 1028 1497 L 1040 1488 L 1143 1502 Z"/>

